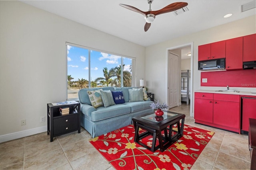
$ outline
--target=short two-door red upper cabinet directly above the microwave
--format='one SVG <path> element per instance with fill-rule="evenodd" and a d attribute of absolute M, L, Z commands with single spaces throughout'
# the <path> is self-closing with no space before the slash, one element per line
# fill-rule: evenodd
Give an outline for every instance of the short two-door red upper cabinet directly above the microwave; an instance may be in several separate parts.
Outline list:
<path fill-rule="evenodd" d="M 198 61 L 221 59 L 226 55 L 226 41 L 198 46 Z"/>

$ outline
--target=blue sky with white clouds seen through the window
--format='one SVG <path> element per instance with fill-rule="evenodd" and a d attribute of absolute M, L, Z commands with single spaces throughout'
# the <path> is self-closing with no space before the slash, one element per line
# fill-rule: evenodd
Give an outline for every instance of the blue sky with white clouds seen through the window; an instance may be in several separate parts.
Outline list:
<path fill-rule="evenodd" d="M 77 81 L 79 79 L 89 80 L 89 59 L 88 59 L 88 49 L 83 49 L 79 47 L 74 47 L 67 45 L 68 53 L 68 75 L 71 75 L 74 79 L 72 81 Z M 103 76 L 103 68 L 107 67 L 108 70 L 119 66 L 121 64 L 121 57 L 116 55 L 111 55 L 107 53 L 101 53 L 99 51 L 90 51 L 90 63 L 91 63 L 91 80 L 94 81 L 98 77 Z M 124 70 L 129 70 L 130 64 L 132 64 L 132 59 L 124 57 Z"/>

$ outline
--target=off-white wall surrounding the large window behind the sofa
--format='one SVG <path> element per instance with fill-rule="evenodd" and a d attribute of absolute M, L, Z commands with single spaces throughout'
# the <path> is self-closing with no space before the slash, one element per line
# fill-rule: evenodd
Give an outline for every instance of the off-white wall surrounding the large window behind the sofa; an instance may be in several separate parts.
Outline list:
<path fill-rule="evenodd" d="M 145 76 L 145 47 L 22 2 L 0 1 L 0 28 L 0 142 L 46 131 L 46 104 L 66 100 L 66 42 L 136 57 L 136 84 Z"/>

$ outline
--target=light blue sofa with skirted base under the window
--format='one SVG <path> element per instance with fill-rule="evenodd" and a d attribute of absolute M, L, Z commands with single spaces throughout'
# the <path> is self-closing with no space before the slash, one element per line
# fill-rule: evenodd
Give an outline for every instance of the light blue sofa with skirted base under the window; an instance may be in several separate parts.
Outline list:
<path fill-rule="evenodd" d="M 108 107 L 92 107 L 87 91 L 99 89 L 122 91 L 125 103 Z M 92 137 L 97 137 L 121 127 L 131 125 L 132 117 L 154 112 L 150 107 L 150 103 L 152 103 L 150 100 L 129 102 L 128 89 L 132 89 L 132 87 L 83 88 L 79 90 L 78 99 L 81 103 L 81 126 L 84 127 Z"/>

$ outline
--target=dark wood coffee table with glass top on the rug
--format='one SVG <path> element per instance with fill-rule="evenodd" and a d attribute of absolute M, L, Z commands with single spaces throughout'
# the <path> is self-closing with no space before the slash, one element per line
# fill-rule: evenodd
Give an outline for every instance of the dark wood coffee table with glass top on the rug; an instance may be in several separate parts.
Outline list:
<path fill-rule="evenodd" d="M 133 117 L 132 121 L 135 129 L 134 142 L 142 145 L 152 152 L 157 149 L 160 149 L 160 151 L 163 152 L 182 137 L 184 120 L 184 114 L 171 111 L 164 111 L 164 115 L 162 115 L 162 117 L 157 117 L 155 113 L 142 115 L 140 117 Z M 178 131 L 172 129 L 175 124 L 177 124 Z M 146 130 L 146 132 L 139 134 L 139 128 Z M 164 136 L 162 135 L 162 131 L 164 131 Z M 172 132 L 174 132 L 174 134 Z M 141 139 L 148 135 L 153 136 L 151 148 L 140 142 Z M 159 145 L 156 146 L 157 139 Z"/>

